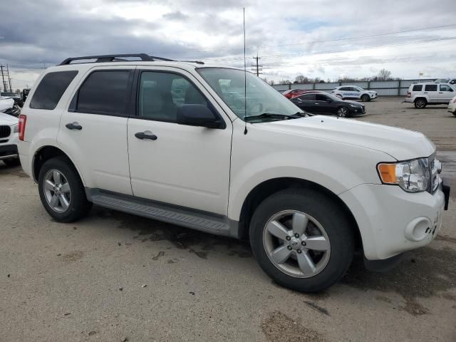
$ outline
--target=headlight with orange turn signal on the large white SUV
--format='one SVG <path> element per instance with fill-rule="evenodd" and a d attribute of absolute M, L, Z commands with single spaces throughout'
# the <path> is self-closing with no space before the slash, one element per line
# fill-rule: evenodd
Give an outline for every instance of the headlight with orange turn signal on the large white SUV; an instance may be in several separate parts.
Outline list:
<path fill-rule="evenodd" d="M 430 165 L 427 158 L 378 164 L 378 175 L 385 184 L 402 187 L 406 192 L 426 191 L 430 187 Z"/>

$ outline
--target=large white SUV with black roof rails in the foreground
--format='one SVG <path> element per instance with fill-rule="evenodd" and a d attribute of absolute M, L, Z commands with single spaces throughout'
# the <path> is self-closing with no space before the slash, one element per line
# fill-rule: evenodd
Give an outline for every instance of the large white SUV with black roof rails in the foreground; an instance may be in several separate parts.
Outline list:
<path fill-rule="evenodd" d="M 356 250 L 378 269 L 437 236 L 450 188 L 423 134 L 307 115 L 242 70 L 128 57 L 69 58 L 26 100 L 21 163 L 54 219 L 98 204 L 248 238 L 299 291 L 334 284 Z"/>

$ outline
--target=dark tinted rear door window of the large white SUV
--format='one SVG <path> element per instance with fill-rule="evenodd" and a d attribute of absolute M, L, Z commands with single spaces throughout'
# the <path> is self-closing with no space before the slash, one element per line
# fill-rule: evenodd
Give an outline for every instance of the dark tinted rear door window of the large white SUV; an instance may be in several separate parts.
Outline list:
<path fill-rule="evenodd" d="M 76 110 L 82 113 L 127 115 L 131 71 L 94 71 L 78 91 Z"/>

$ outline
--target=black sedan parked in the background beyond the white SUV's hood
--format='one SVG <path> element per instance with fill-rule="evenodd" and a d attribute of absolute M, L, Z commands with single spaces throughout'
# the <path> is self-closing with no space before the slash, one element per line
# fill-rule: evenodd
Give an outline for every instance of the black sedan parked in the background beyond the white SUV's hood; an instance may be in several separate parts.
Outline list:
<path fill-rule="evenodd" d="M 339 117 L 366 113 L 366 107 L 356 101 L 342 100 L 328 93 L 304 93 L 291 98 L 291 102 L 312 114 L 333 114 Z"/>

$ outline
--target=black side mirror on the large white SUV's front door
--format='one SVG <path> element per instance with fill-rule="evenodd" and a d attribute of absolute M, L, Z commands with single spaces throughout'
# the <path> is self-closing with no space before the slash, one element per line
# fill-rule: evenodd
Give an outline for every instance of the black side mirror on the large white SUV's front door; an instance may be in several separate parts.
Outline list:
<path fill-rule="evenodd" d="M 206 105 L 180 105 L 177 107 L 177 123 L 216 129 L 226 127 L 224 121 L 212 113 Z"/>

